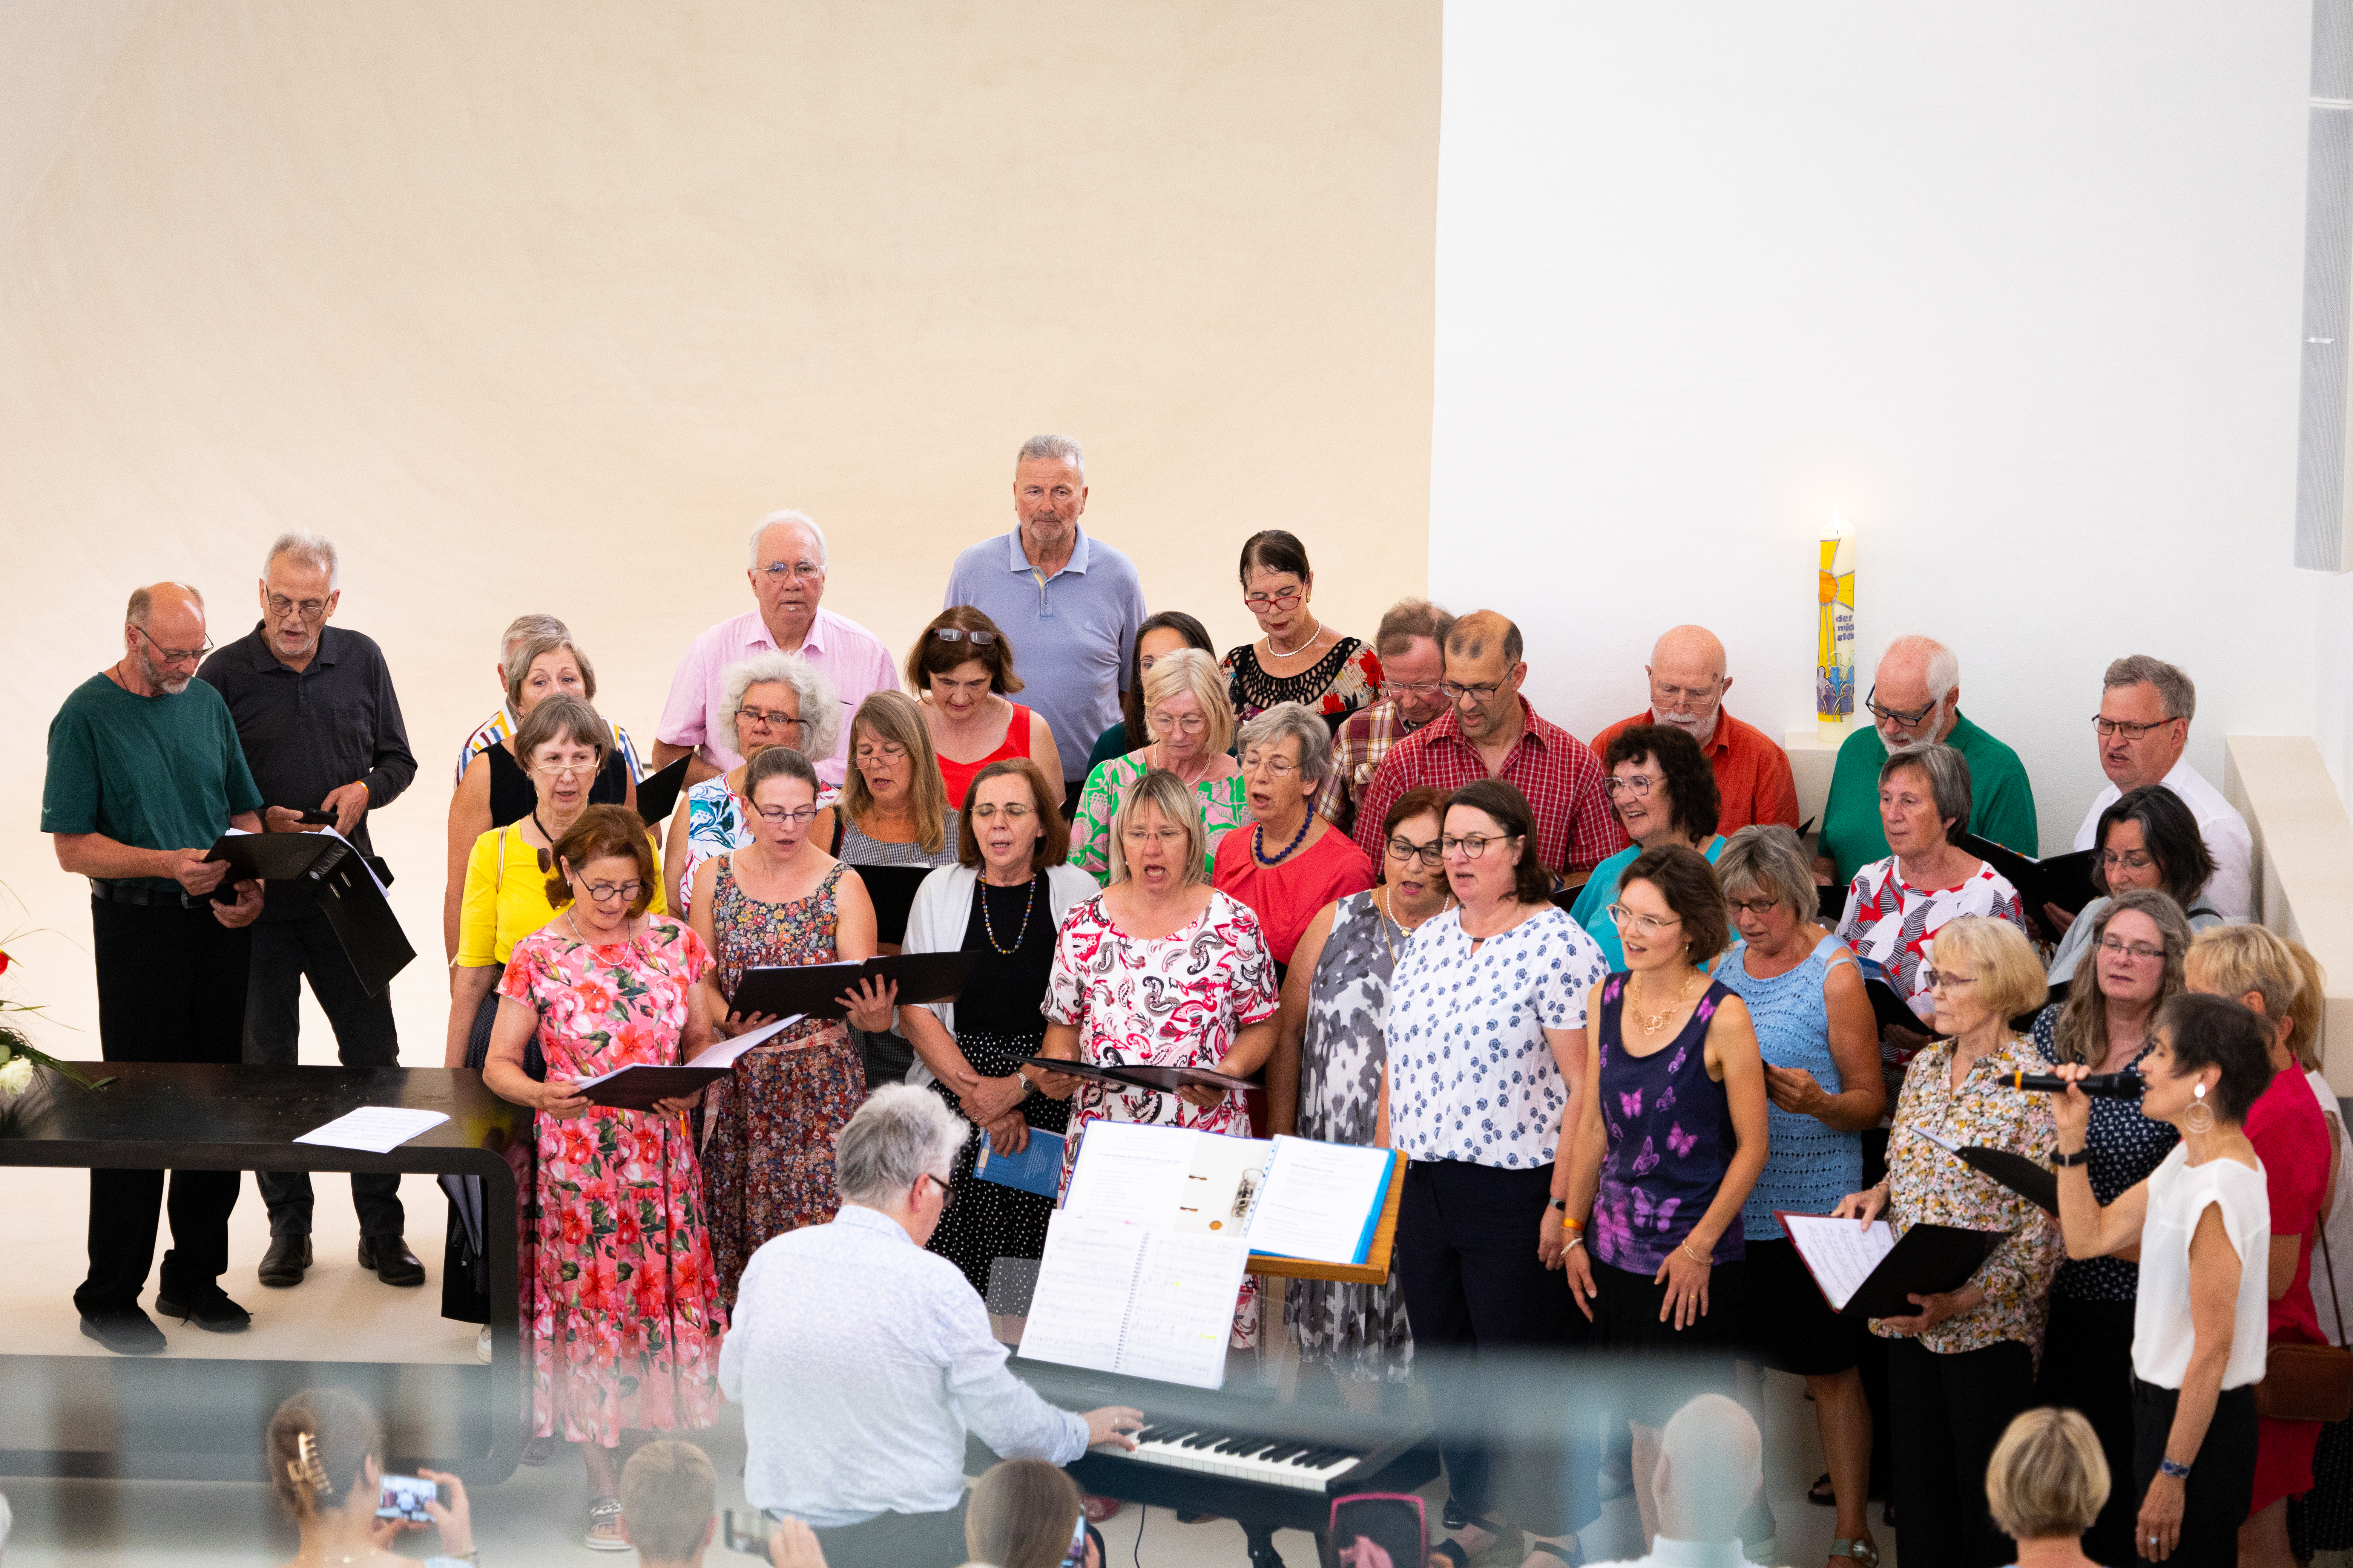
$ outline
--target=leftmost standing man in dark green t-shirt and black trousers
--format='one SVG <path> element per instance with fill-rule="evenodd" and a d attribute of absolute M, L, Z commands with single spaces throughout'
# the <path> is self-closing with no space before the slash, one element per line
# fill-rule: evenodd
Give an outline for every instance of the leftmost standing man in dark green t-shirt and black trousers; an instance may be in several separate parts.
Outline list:
<path fill-rule="evenodd" d="M 111 1063 L 235 1063 L 245 1051 L 245 976 L 261 884 L 205 860 L 226 827 L 261 832 L 261 790 L 228 703 L 195 682 L 205 599 L 179 583 L 132 595 L 122 658 L 66 696 L 49 722 L 40 830 L 56 863 L 89 877 L 99 961 L 99 1048 Z M 139 1309 L 155 1262 L 162 1171 L 89 1173 L 89 1276 L 73 1293 L 82 1333 L 153 1354 L 162 1331 Z M 172 1173 L 172 1248 L 155 1309 L 214 1333 L 252 1316 L 221 1291 L 235 1171 Z"/>

